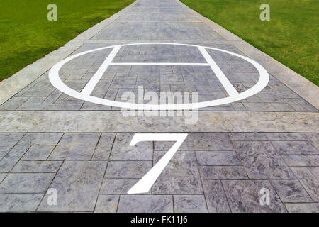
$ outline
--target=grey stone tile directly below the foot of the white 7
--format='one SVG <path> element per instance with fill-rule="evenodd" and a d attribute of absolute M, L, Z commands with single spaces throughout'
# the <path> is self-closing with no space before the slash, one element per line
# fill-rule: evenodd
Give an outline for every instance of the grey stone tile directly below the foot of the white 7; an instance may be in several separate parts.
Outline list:
<path fill-rule="evenodd" d="M 118 213 L 172 213 L 173 198 L 167 195 L 122 195 Z"/>

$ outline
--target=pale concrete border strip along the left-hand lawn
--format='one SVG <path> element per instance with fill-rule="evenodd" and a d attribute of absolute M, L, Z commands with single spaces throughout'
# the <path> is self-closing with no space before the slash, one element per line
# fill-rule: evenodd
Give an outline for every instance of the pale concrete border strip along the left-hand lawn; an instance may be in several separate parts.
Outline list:
<path fill-rule="evenodd" d="M 28 84 L 32 83 L 35 79 L 38 79 L 38 77 L 47 72 L 47 70 L 50 70 L 50 68 L 55 65 L 55 63 L 60 62 L 61 60 L 65 59 L 65 57 L 72 54 L 72 52 L 77 50 L 77 48 L 79 48 L 82 44 L 86 43 L 86 40 L 99 33 L 99 31 L 105 28 L 109 23 L 122 16 L 125 11 L 132 8 L 137 3 L 138 0 L 134 1 L 132 4 L 126 6 L 121 11 L 114 13 L 109 18 L 106 18 L 100 23 L 97 23 L 83 33 L 77 35 L 77 37 L 75 37 L 74 39 L 69 40 L 69 42 L 67 42 L 65 45 L 61 46 L 57 50 L 53 50 L 39 60 L 36 60 L 32 64 L 27 65 L 22 70 L 16 72 L 11 77 L 1 81 L 0 105 L 4 104 L 4 102 L 10 99 L 11 96 L 15 95 L 21 89 L 28 86 Z"/>

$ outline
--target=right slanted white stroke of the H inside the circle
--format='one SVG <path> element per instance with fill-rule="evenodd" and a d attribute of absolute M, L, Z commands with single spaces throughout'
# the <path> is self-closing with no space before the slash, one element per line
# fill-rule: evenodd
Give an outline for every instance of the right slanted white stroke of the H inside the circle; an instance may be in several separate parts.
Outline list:
<path fill-rule="evenodd" d="M 233 84 L 230 83 L 223 71 L 220 70 L 220 67 L 218 67 L 213 58 L 211 58 L 211 55 L 208 54 L 207 50 L 201 46 L 198 46 L 198 49 L 201 51 L 201 54 L 205 58 L 206 62 L 208 62 L 208 64 L 211 66 L 211 70 L 213 70 L 213 72 L 216 74 L 216 77 L 219 79 L 229 96 L 237 96 L 237 90 L 235 87 L 233 87 Z"/>

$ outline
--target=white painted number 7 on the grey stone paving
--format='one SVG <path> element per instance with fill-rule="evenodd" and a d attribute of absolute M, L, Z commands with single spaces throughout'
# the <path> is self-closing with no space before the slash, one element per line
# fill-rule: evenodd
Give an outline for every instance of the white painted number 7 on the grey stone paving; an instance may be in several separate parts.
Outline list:
<path fill-rule="evenodd" d="M 132 141 L 130 141 L 130 146 L 135 145 L 141 141 L 176 141 L 172 148 L 167 151 L 167 153 L 156 163 L 149 172 L 142 177 L 130 190 L 128 194 L 138 194 L 138 193 L 147 193 L 150 191 L 152 185 L 156 182 L 157 178 L 164 170 L 164 168 L 169 163 L 169 160 L 172 159 L 174 154 L 177 152 L 181 143 L 187 137 L 187 133 L 136 133 L 133 136 Z"/>

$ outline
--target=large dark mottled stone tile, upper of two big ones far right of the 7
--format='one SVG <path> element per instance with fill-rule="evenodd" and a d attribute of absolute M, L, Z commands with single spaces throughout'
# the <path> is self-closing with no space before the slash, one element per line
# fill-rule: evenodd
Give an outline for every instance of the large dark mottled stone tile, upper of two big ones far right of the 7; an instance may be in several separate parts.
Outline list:
<path fill-rule="evenodd" d="M 268 141 L 235 141 L 237 154 L 250 179 L 295 179 Z"/>

